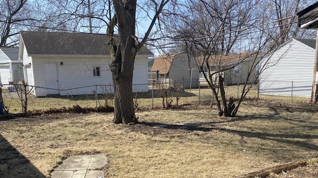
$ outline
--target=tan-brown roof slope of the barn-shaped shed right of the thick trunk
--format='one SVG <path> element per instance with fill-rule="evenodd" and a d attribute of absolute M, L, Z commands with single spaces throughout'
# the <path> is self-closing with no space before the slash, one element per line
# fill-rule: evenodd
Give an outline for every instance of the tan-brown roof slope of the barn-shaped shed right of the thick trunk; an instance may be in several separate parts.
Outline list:
<path fill-rule="evenodd" d="M 180 54 L 180 53 L 177 53 Z M 155 58 L 152 71 L 159 71 L 160 74 L 167 74 L 170 70 L 174 56 L 177 54 L 165 54 Z"/>

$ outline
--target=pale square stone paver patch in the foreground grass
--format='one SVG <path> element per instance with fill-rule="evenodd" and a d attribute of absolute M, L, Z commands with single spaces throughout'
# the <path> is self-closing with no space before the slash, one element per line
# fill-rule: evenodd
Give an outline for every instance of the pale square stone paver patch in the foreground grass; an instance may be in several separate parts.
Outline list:
<path fill-rule="evenodd" d="M 63 161 L 51 173 L 52 178 L 103 178 L 107 165 L 105 154 L 72 156 Z"/>

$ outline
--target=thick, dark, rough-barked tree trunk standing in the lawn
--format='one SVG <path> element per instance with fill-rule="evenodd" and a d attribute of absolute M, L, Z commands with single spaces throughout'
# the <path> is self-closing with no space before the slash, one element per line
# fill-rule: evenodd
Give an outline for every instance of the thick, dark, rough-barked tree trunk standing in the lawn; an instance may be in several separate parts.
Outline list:
<path fill-rule="evenodd" d="M 133 70 L 138 46 L 135 37 L 136 3 L 137 0 L 113 0 L 115 17 L 108 26 L 110 35 L 108 44 L 112 63 L 114 84 L 115 111 L 113 123 L 132 123 L 135 119 L 133 103 Z M 114 35 L 114 27 L 118 25 L 118 35 Z"/>

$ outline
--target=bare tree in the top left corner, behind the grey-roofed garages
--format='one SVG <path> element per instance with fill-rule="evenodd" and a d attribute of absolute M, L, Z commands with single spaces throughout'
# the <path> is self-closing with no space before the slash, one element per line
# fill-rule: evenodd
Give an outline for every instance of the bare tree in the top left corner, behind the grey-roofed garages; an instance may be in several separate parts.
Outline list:
<path fill-rule="evenodd" d="M 65 1 L 66 2 L 66 1 Z M 17 46 L 20 31 L 70 30 L 69 16 L 57 1 L 0 0 L 0 46 Z M 60 4 L 59 4 L 60 5 Z M 58 12 L 58 13 L 57 13 Z"/>

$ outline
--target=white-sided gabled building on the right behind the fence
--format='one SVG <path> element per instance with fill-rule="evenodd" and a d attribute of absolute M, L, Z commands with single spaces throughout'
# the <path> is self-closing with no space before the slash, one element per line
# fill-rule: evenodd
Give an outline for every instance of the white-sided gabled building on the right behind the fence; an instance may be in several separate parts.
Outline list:
<path fill-rule="evenodd" d="M 259 93 L 311 97 L 316 40 L 291 39 L 260 62 Z"/>

